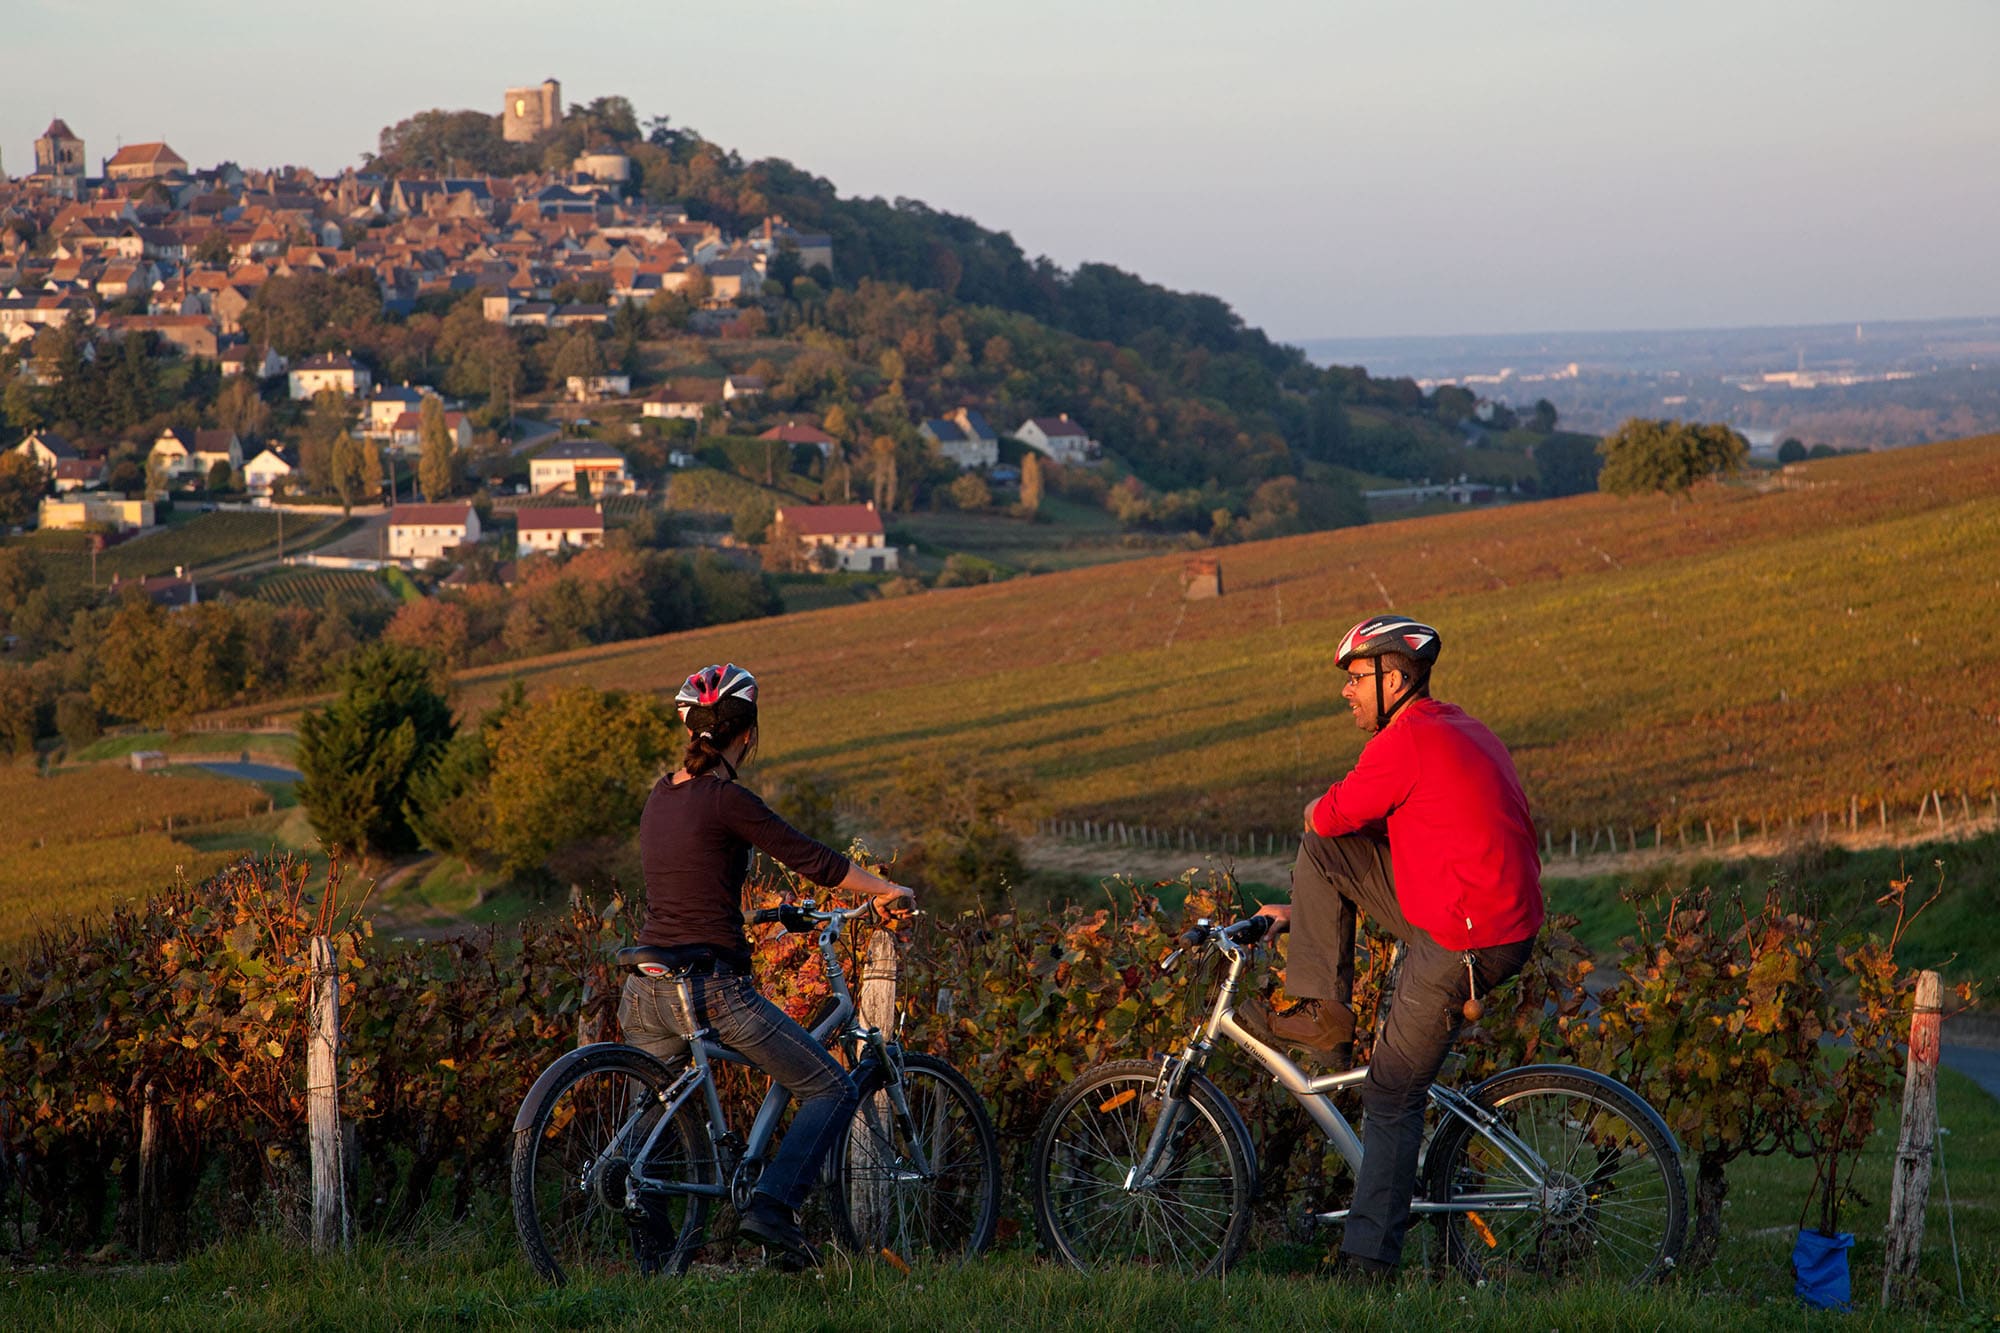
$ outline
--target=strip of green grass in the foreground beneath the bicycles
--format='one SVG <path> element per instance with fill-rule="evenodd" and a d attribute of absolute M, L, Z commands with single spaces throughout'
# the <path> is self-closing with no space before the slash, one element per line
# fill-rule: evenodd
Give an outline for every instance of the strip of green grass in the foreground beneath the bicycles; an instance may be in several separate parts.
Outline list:
<path fill-rule="evenodd" d="M 1864 1155 L 1858 1183 L 1872 1199 L 1844 1225 L 1852 1251 L 1856 1313 L 1842 1327 L 1902 1329 L 1912 1323 L 1982 1327 L 2000 1315 L 2000 1103 L 1952 1071 L 1940 1077 L 1940 1119 L 1950 1129 L 1946 1171 L 1932 1179 L 1928 1229 L 1914 1305 L 1878 1309 L 1880 1225 L 1888 1201 L 1894 1135 Z M 1894 1125 L 1894 1111 L 1884 1117 Z M 812 1277 L 752 1267 L 754 1251 L 716 1239 L 682 1279 L 608 1279 L 548 1289 L 522 1263 L 496 1199 L 472 1221 L 430 1223 L 396 1239 L 366 1239 L 314 1259 L 302 1245 L 266 1233 L 204 1249 L 184 1263 L 18 1267 L 0 1289 L 0 1327 L 16 1329 L 1806 1329 L 1792 1299 L 1788 1255 L 1810 1167 L 1754 1159 L 1732 1169 L 1722 1259 L 1642 1291 L 1576 1287 L 1482 1291 L 1432 1277 L 1416 1263 L 1424 1231 L 1412 1231 L 1406 1267 L 1386 1289 L 1352 1287 L 1326 1275 L 1328 1243 L 1262 1243 L 1228 1281 L 1188 1281 L 1114 1269 L 1072 1273 L 1032 1257 L 1014 1215 L 1012 1239 L 960 1267 L 902 1273 L 838 1253 Z M 1966 1281 L 1958 1301 L 1950 1233 Z"/>

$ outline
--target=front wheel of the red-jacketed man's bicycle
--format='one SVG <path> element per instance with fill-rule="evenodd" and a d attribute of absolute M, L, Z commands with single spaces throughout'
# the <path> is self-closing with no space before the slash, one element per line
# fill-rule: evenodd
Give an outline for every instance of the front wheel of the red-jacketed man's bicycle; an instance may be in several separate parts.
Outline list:
<path fill-rule="evenodd" d="M 1208 1277 L 1242 1255 L 1256 1155 L 1208 1079 L 1188 1079 L 1158 1185 L 1124 1187 L 1152 1141 L 1158 1085 L 1158 1061 L 1100 1065 L 1056 1099 L 1034 1137 L 1034 1223 L 1078 1269 L 1138 1263 Z"/>

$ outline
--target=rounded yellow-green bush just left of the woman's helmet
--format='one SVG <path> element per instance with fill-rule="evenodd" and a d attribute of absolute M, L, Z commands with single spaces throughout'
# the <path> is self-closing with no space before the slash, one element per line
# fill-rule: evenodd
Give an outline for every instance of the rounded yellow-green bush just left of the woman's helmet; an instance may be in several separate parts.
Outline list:
<path fill-rule="evenodd" d="M 576 843 L 626 837 L 646 793 L 678 755 L 678 727 L 646 695 L 560 689 L 496 729 L 490 785 L 494 851 L 514 873 Z"/>

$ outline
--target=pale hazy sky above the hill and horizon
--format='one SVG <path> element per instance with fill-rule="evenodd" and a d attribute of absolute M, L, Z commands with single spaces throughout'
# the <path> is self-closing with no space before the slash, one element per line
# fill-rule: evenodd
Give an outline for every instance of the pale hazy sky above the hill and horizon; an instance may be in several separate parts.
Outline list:
<path fill-rule="evenodd" d="M 544 76 L 1282 338 L 2000 312 L 2000 6 L 4 0 L 0 160 L 358 162 Z"/>

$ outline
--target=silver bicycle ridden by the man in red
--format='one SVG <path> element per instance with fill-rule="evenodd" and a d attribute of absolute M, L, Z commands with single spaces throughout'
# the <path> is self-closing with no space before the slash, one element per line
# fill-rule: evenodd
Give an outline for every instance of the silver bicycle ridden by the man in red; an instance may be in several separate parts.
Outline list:
<path fill-rule="evenodd" d="M 1042 1243 L 1080 1269 L 1144 1263 L 1222 1273 L 1238 1259 L 1256 1195 L 1242 1115 L 1204 1075 L 1218 1041 L 1242 1047 L 1306 1111 L 1350 1169 L 1362 1143 L 1332 1095 L 1368 1069 L 1310 1077 L 1236 1021 L 1266 917 L 1198 923 L 1184 949 L 1226 961 L 1208 1019 L 1178 1055 L 1086 1071 L 1044 1117 L 1032 1155 Z M 1412 1211 L 1436 1223 L 1444 1261 L 1476 1283 L 1610 1279 L 1672 1271 L 1686 1181 L 1666 1121 L 1616 1079 L 1526 1065 L 1454 1091 L 1434 1111 Z M 1346 1209 L 1310 1213 L 1340 1225 Z"/>

